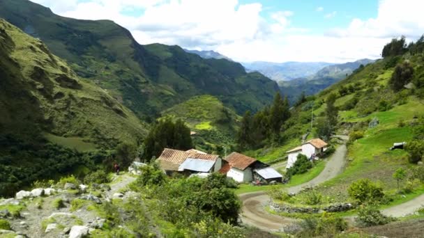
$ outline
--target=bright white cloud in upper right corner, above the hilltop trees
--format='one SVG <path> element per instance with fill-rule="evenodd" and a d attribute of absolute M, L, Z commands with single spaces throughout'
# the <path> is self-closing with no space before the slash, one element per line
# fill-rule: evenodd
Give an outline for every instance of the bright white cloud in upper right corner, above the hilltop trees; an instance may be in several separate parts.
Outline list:
<path fill-rule="evenodd" d="M 417 38 L 424 33 L 424 1 L 379 1 L 376 18 L 353 19 L 347 29 L 332 29 L 328 35 L 338 37 L 393 38 L 406 35 Z"/>

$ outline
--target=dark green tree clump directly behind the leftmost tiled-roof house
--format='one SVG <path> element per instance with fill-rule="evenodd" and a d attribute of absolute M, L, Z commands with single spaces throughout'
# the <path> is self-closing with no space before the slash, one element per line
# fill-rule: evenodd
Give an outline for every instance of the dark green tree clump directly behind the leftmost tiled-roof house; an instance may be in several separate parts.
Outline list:
<path fill-rule="evenodd" d="M 190 150 L 192 147 L 190 129 L 184 122 L 166 118 L 156 122 L 144 140 L 144 159 L 158 157 L 164 148 Z"/>

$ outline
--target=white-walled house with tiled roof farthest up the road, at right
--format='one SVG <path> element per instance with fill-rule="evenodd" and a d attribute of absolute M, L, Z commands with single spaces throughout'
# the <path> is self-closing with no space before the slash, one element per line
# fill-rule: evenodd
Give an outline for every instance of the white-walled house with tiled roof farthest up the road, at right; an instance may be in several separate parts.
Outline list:
<path fill-rule="evenodd" d="M 303 143 L 303 145 L 287 151 L 286 153 L 289 155 L 286 168 L 292 168 L 294 162 L 297 160 L 298 154 L 304 154 L 308 158 L 311 158 L 312 155 L 319 156 L 326 150 L 327 145 L 328 144 L 320 138 L 313 138 Z"/>

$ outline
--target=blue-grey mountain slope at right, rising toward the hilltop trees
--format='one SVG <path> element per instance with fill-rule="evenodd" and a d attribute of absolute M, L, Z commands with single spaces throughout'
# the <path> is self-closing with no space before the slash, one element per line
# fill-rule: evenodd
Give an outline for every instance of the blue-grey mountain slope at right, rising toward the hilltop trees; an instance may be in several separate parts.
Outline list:
<path fill-rule="evenodd" d="M 361 65 L 368 65 L 374 62 L 368 58 L 364 58 L 354 62 L 341 63 L 337 65 L 328 65 L 315 74 L 309 75 L 292 81 L 280 81 L 279 86 L 284 95 L 289 97 L 291 102 L 295 102 L 301 93 L 306 95 L 314 95 L 319 91 L 345 79 Z"/>

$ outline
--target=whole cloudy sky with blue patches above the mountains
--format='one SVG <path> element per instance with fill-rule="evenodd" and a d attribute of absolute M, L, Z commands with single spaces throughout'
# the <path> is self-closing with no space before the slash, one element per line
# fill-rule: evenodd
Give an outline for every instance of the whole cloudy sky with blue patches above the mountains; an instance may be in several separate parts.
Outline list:
<path fill-rule="evenodd" d="M 424 33 L 422 0 L 31 0 L 57 15 L 111 19 L 139 44 L 213 50 L 234 61 L 379 58 Z"/>

